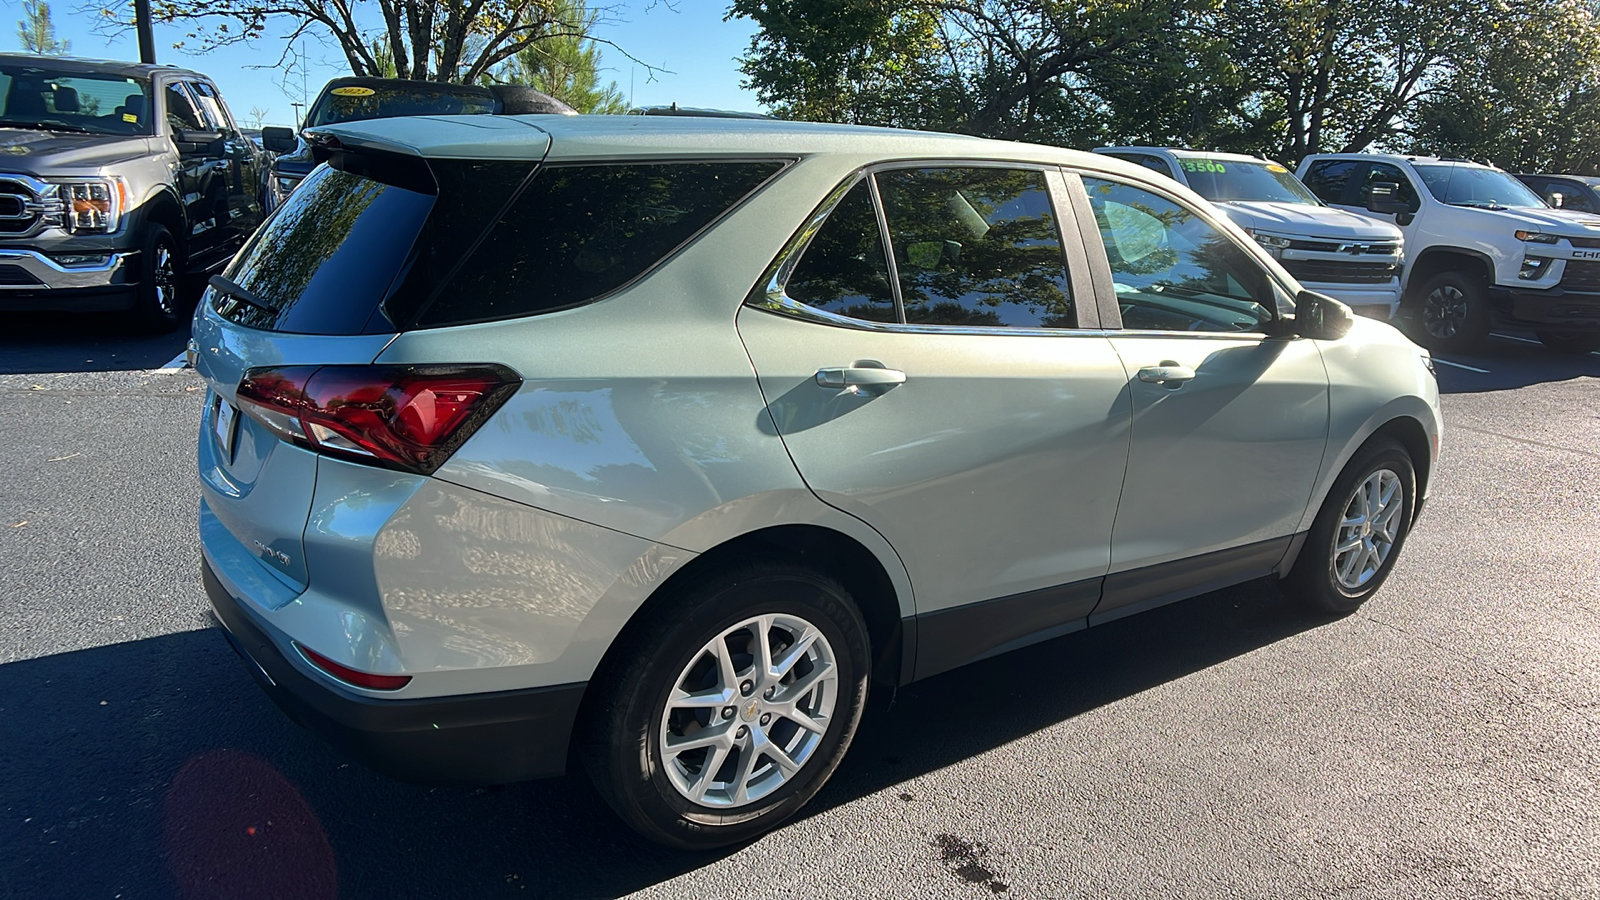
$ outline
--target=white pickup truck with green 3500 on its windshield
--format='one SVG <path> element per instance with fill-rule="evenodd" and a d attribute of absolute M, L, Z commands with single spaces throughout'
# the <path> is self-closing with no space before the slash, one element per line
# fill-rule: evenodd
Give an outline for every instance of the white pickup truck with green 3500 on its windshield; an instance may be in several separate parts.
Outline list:
<path fill-rule="evenodd" d="M 1325 207 L 1294 175 L 1240 154 L 1176 147 L 1096 147 L 1152 168 L 1221 208 L 1302 287 L 1390 319 L 1400 307 L 1400 229 Z"/>

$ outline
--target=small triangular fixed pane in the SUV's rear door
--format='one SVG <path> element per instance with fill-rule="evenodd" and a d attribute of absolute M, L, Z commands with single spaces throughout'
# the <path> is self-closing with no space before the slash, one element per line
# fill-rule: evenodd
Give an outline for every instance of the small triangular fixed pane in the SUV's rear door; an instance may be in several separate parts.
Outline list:
<path fill-rule="evenodd" d="M 858 181 L 827 215 L 784 293 L 835 315 L 898 322 L 878 215 L 866 181 Z"/>

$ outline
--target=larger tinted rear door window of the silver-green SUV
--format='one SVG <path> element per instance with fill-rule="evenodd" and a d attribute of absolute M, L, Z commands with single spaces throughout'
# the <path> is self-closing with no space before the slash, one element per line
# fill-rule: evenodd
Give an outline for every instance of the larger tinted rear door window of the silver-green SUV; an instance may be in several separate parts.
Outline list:
<path fill-rule="evenodd" d="M 1077 325 L 1045 173 L 952 167 L 875 178 L 907 323 Z"/>

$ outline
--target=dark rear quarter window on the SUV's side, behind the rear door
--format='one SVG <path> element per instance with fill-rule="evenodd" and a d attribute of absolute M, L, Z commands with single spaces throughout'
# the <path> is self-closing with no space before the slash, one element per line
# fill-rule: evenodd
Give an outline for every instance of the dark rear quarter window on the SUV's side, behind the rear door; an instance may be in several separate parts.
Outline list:
<path fill-rule="evenodd" d="M 773 160 L 544 168 L 422 304 L 416 323 L 459 325 L 597 299 L 670 256 L 782 167 Z"/>

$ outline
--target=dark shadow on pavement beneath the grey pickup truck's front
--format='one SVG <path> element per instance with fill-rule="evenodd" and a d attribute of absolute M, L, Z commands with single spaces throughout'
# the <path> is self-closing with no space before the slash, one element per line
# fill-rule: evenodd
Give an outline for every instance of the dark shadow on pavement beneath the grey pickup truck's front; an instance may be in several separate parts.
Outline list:
<path fill-rule="evenodd" d="M 147 335 L 110 312 L 10 312 L 0 315 L 0 375 L 160 368 L 187 343 L 186 325 Z"/>

